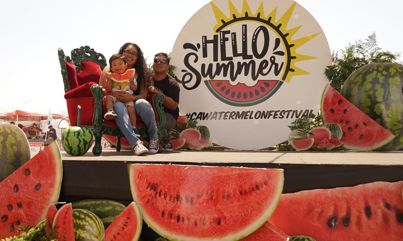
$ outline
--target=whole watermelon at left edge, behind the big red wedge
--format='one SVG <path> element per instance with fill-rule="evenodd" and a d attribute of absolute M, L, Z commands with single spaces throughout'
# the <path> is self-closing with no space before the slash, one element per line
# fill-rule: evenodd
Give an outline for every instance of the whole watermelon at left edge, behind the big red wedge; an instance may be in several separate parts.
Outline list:
<path fill-rule="evenodd" d="M 0 182 L 31 158 L 27 136 L 16 125 L 0 124 Z"/>

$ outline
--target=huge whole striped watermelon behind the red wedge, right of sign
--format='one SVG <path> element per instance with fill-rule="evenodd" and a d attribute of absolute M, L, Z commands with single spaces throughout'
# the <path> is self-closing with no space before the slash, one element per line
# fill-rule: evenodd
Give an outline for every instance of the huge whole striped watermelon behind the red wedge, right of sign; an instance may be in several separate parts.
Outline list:
<path fill-rule="evenodd" d="M 340 93 L 395 136 L 377 151 L 403 148 L 403 65 L 364 65 L 347 78 Z"/>

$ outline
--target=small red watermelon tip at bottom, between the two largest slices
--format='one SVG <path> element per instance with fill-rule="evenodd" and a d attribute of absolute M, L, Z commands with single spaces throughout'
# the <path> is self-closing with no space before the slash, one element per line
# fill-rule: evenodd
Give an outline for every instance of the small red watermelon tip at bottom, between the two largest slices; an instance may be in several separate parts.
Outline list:
<path fill-rule="evenodd" d="M 287 241 L 288 235 L 273 223 L 267 221 L 252 234 L 242 238 L 242 241 Z"/>

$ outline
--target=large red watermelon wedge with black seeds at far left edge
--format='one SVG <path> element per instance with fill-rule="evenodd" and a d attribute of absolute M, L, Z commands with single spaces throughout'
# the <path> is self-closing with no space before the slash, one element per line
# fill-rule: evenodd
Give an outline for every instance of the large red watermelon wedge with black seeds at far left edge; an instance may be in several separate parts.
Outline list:
<path fill-rule="evenodd" d="M 35 226 L 59 198 L 60 150 L 52 142 L 0 182 L 0 238 L 17 233 L 18 225 Z"/>

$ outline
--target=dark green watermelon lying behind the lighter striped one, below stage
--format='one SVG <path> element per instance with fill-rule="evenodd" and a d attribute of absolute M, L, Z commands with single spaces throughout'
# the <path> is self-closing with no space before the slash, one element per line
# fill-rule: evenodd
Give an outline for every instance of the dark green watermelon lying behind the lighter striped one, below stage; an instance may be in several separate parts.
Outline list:
<path fill-rule="evenodd" d="M 97 215 L 105 228 L 126 208 L 120 202 L 108 199 L 84 199 L 72 203 L 74 209 L 85 209 Z"/>

